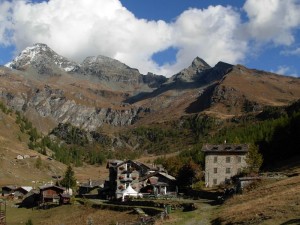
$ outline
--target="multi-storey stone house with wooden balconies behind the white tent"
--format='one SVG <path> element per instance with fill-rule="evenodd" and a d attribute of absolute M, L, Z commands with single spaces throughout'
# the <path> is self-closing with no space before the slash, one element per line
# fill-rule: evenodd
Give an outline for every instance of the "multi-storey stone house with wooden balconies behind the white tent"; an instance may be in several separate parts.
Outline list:
<path fill-rule="evenodd" d="M 133 160 L 109 160 L 109 180 L 104 184 L 108 197 L 122 197 L 122 192 L 131 186 L 136 192 L 152 185 L 152 191 L 166 194 L 175 187 L 176 179 L 168 175 L 161 166 L 146 165 Z"/>

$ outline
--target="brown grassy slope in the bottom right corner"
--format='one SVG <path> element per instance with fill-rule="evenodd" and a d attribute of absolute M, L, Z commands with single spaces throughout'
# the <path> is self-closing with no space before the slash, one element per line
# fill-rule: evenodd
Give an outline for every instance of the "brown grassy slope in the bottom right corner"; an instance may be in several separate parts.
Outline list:
<path fill-rule="evenodd" d="M 294 176 L 262 181 L 258 187 L 226 201 L 220 224 L 299 224 L 300 164 L 289 170 Z M 298 175 L 297 175 L 298 174 Z"/>

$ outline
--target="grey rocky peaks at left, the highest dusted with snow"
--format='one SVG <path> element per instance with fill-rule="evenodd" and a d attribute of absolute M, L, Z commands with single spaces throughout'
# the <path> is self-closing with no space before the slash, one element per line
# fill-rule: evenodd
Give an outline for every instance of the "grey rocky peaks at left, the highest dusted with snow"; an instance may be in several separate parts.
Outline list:
<path fill-rule="evenodd" d="M 49 46 L 37 43 L 25 48 L 13 61 L 5 65 L 16 70 L 30 70 L 43 75 L 61 75 L 64 72 L 78 75 L 90 75 L 100 81 L 125 83 L 126 85 L 159 86 L 166 81 L 164 76 L 142 75 L 137 69 L 106 57 L 89 56 L 82 63 L 76 63 L 54 52 Z"/>

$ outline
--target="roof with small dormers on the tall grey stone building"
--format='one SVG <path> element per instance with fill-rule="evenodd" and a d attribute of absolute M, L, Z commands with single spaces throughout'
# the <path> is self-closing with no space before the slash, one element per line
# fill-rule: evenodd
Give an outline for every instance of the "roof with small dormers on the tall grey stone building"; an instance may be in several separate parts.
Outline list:
<path fill-rule="evenodd" d="M 211 145 L 205 144 L 202 147 L 203 152 L 248 152 L 249 146 L 247 144 L 221 144 L 221 145 Z"/>

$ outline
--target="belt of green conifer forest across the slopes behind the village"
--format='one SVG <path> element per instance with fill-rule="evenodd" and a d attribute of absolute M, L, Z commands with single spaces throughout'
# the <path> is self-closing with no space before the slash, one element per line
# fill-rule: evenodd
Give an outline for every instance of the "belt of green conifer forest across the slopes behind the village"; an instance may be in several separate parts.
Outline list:
<path fill-rule="evenodd" d="M 186 173 L 187 168 L 192 168 L 196 171 L 193 176 L 199 177 L 197 171 L 204 167 L 202 145 L 221 144 L 224 140 L 257 146 L 263 156 L 263 168 L 272 168 L 282 160 L 299 155 L 300 100 L 287 107 L 265 107 L 259 114 L 248 113 L 228 120 L 194 114 L 179 121 L 128 128 L 115 134 L 126 143 L 120 146 L 114 146 L 115 140 L 101 130 L 87 132 L 71 124 L 59 124 L 43 135 L 20 112 L 13 112 L 3 103 L 0 109 L 15 116 L 20 131 L 28 135 L 30 149 L 74 166 L 157 154 L 161 157 L 155 163 L 163 164 L 172 175 L 180 176 L 182 169 Z M 179 154 L 164 157 L 171 152 Z"/>

